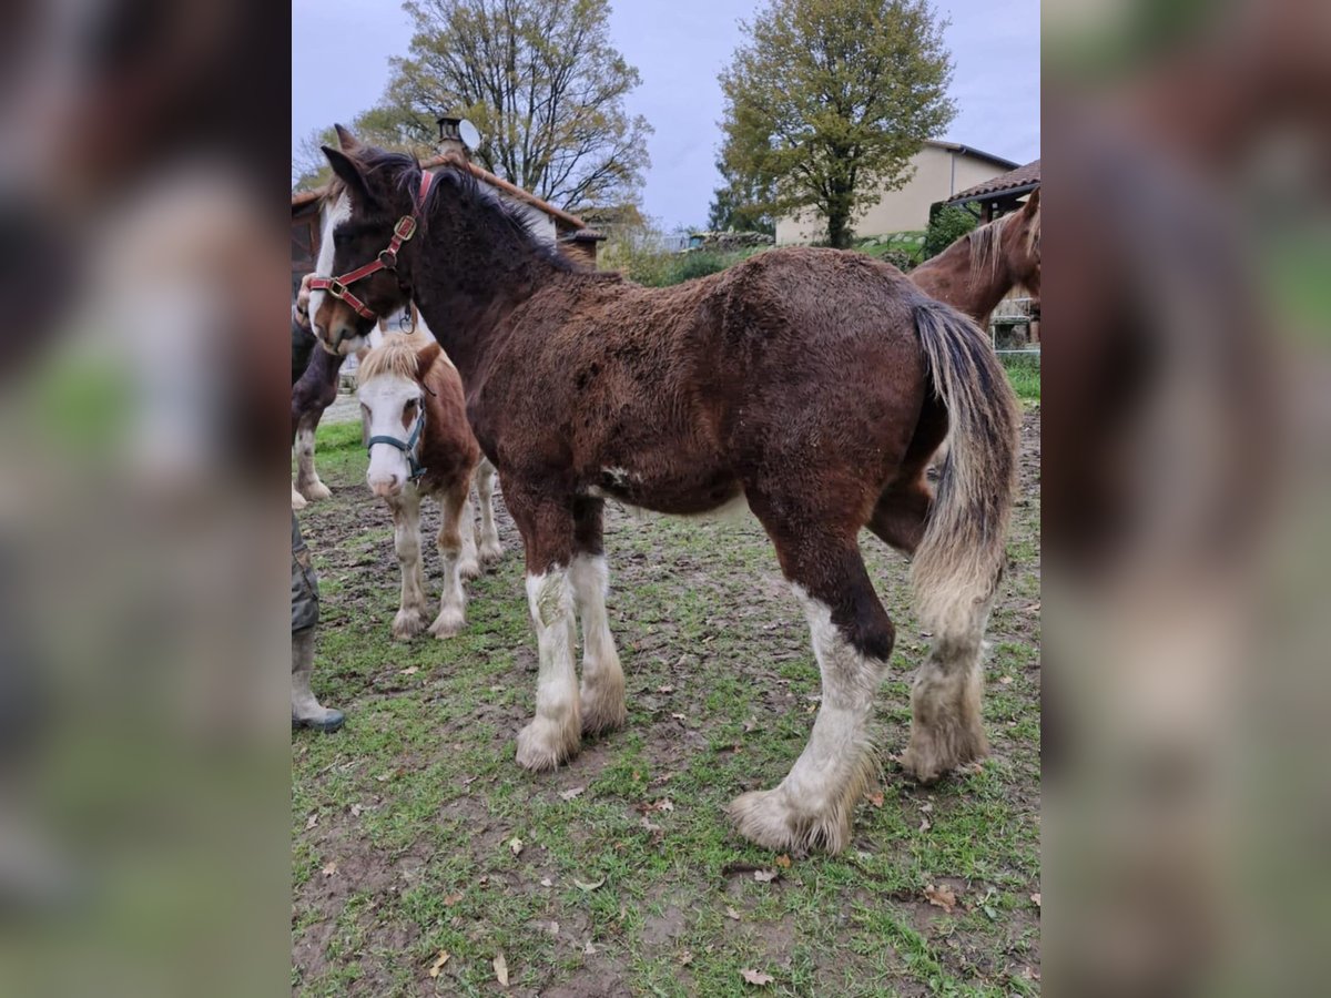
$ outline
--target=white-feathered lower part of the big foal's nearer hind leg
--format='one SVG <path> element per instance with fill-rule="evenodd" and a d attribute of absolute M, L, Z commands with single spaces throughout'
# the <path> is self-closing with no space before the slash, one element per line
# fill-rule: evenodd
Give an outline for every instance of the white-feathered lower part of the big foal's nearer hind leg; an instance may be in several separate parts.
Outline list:
<path fill-rule="evenodd" d="M 740 833 L 769 849 L 840 852 L 855 805 L 873 777 L 869 715 L 886 663 L 857 651 L 832 623 L 831 609 L 793 587 L 813 633 L 823 704 L 795 766 L 775 790 L 731 804 Z"/>

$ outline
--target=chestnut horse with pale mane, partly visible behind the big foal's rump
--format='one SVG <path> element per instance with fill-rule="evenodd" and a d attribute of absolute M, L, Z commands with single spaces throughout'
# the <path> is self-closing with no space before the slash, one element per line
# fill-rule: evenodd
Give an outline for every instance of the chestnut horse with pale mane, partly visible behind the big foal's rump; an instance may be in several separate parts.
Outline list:
<path fill-rule="evenodd" d="M 1013 287 L 1040 301 L 1040 188 L 1020 212 L 968 232 L 910 271 L 910 282 L 988 327 Z"/>

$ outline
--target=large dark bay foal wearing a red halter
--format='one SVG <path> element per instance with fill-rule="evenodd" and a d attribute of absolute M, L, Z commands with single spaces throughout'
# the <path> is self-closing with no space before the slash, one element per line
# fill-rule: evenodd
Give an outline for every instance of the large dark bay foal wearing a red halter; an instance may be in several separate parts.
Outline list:
<path fill-rule="evenodd" d="M 640 287 L 567 261 L 461 160 L 431 182 L 411 157 L 339 138 L 341 150 L 325 149 L 341 190 L 314 329 L 346 354 L 410 297 L 458 366 L 526 547 L 539 676 L 522 766 L 556 766 L 584 732 L 626 719 L 604 603 L 607 498 L 667 514 L 747 502 L 808 617 L 819 715 L 781 784 L 731 804 L 741 834 L 781 850 L 849 841 L 894 641 L 860 556 L 862 527 L 913 555 L 933 637 L 904 768 L 932 781 L 988 752 L 981 643 L 1018 410 L 973 322 L 894 267 L 839 250 L 772 250 Z M 944 436 L 952 452 L 934 498 L 924 472 Z"/>

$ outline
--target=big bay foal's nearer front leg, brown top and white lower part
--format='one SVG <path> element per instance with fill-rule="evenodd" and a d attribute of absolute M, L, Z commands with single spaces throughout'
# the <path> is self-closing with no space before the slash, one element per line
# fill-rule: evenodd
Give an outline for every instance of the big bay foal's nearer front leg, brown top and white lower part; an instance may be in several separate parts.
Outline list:
<path fill-rule="evenodd" d="M 572 503 L 551 499 L 544 483 L 504 480 L 504 499 L 527 550 L 527 603 L 540 669 L 536 716 L 518 733 L 518 765 L 554 769 L 582 748 L 574 667 Z"/>

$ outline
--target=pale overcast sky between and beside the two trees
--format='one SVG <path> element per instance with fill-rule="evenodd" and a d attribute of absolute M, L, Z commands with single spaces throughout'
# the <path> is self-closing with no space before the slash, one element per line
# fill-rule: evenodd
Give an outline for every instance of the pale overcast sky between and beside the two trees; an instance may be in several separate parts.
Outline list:
<path fill-rule="evenodd" d="M 701 225 L 720 184 L 716 75 L 759 0 L 615 0 L 611 40 L 642 85 L 632 113 L 656 129 L 643 202 L 667 228 Z M 952 27 L 958 113 L 944 138 L 1028 162 L 1040 156 L 1040 0 L 937 0 Z M 411 40 L 391 0 L 293 0 L 291 149 L 310 132 L 378 102 L 389 57 Z"/>

